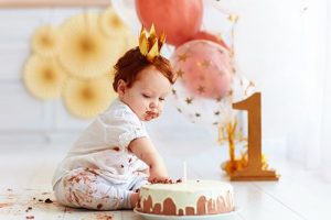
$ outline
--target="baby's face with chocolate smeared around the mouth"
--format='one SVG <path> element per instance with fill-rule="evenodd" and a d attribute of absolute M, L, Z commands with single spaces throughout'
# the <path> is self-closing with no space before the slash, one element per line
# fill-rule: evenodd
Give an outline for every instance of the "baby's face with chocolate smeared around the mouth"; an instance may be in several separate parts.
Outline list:
<path fill-rule="evenodd" d="M 126 88 L 121 100 L 142 121 L 158 118 L 162 110 L 166 97 L 171 91 L 171 84 L 153 66 L 142 69 L 130 88 Z"/>

